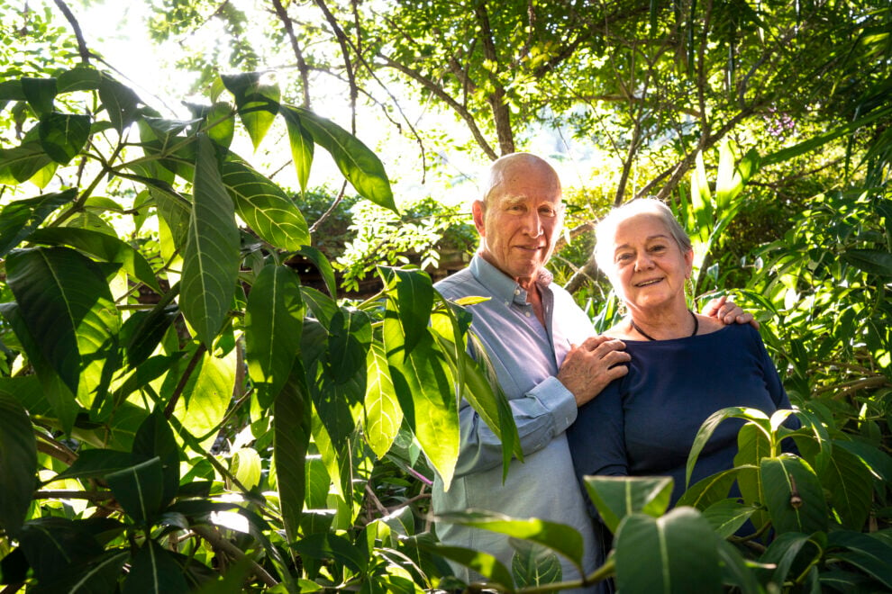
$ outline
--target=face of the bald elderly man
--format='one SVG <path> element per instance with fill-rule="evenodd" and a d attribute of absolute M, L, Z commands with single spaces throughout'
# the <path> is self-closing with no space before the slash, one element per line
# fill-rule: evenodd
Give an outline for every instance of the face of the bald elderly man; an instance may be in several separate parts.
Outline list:
<path fill-rule="evenodd" d="M 551 257 L 562 214 L 560 182 L 551 168 L 527 163 L 506 167 L 487 204 L 474 203 L 481 256 L 529 288 Z"/>

